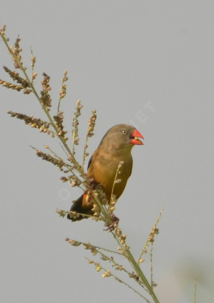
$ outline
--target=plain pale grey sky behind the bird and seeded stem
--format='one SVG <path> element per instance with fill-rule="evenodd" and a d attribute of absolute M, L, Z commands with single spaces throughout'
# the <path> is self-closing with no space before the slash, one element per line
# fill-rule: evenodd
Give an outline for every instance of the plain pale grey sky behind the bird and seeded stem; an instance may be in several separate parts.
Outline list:
<path fill-rule="evenodd" d="M 115 124 L 133 124 L 144 136 L 144 146 L 132 150 L 132 175 L 115 214 L 138 258 L 165 205 L 153 249 L 155 293 L 162 303 L 193 302 L 196 275 L 197 302 L 211 303 L 214 297 L 213 13 L 211 0 L 1 5 L 1 27 L 7 25 L 10 45 L 19 34 L 28 72 L 32 46 L 38 91 L 42 72 L 51 77 L 52 115 L 68 70 L 62 101 L 66 129 L 77 100 L 84 105 L 78 160 L 92 109 L 98 117 L 90 155 Z M 0 66 L 13 68 L 3 42 L 0 53 Z M 3 69 L 0 78 L 9 80 Z M 95 272 L 84 258 L 93 258 L 90 252 L 64 241 L 117 247 L 102 223 L 58 217 L 55 209 L 68 210 L 81 191 L 62 183 L 63 174 L 29 145 L 44 150 L 47 144 L 61 153 L 59 144 L 7 115 L 12 110 L 45 118 L 33 95 L 0 87 L 0 97 L 0 301 L 142 302 L 129 288 Z M 112 269 L 109 263 L 105 267 Z M 149 278 L 149 254 L 142 269 Z"/>

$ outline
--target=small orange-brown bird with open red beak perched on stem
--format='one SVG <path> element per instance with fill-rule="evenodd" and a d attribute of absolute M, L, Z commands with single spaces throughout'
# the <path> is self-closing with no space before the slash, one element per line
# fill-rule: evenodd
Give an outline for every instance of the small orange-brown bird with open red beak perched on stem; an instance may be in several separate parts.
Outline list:
<path fill-rule="evenodd" d="M 120 183 L 114 186 L 115 198 L 118 199 L 125 189 L 126 182 L 132 173 L 132 155 L 131 150 L 134 145 L 143 145 L 138 139 L 143 136 L 135 127 L 127 124 L 118 124 L 108 130 L 102 138 L 98 148 L 91 156 L 88 164 L 87 176 L 92 179 L 95 184 L 101 184 L 105 192 L 108 203 L 110 203 L 112 188 L 115 180 L 116 171 L 120 161 L 123 161 L 120 168 Z M 89 191 L 73 201 L 71 211 L 81 214 L 93 215 L 93 199 Z M 79 216 L 68 219 L 72 221 L 88 218 L 87 216 Z"/>

